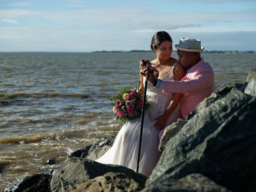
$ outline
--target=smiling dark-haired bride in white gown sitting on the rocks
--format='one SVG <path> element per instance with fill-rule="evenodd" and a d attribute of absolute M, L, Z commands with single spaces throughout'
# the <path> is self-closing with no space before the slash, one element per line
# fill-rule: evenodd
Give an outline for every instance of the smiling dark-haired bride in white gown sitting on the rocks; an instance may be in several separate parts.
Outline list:
<path fill-rule="evenodd" d="M 154 34 L 151 41 L 151 49 L 156 52 L 156 59 L 150 62 L 154 68 L 156 78 L 162 80 L 181 80 L 184 76 L 184 68 L 177 62 L 172 54 L 172 38 L 165 31 Z M 140 88 L 138 92 L 144 92 L 145 77 L 140 71 Z M 140 163 L 138 172 L 149 176 L 159 160 L 158 133 L 177 118 L 180 114 L 180 99 L 182 94 L 163 93 L 155 90 L 149 83 L 147 86 L 147 100 L 150 104 L 144 113 L 142 144 L 140 151 Z M 138 160 L 138 146 L 140 139 L 140 121 L 134 119 L 127 121 L 118 132 L 112 148 L 96 161 L 103 164 L 116 164 L 126 166 L 136 171 Z M 160 133 L 161 134 L 161 133 Z"/>

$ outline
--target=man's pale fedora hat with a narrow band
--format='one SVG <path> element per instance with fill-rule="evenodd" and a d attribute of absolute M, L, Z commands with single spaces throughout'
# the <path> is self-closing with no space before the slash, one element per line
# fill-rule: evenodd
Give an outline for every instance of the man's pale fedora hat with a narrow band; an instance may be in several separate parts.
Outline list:
<path fill-rule="evenodd" d="M 200 40 L 191 38 L 180 38 L 179 44 L 176 44 L 175 47 L 178 50 L 191 52 L 202 52 L 204 50 Z"/>

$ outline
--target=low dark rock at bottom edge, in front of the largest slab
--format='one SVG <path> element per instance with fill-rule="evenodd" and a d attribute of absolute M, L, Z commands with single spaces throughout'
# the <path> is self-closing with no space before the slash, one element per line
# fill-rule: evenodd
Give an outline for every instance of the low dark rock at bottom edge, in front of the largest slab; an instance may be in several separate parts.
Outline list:
<path fill-rule="evenodd" d="M 231 192 L 202 174 L 189 174 L 180 179 L 166 179 L 146 186 L 141 192 Z"/>

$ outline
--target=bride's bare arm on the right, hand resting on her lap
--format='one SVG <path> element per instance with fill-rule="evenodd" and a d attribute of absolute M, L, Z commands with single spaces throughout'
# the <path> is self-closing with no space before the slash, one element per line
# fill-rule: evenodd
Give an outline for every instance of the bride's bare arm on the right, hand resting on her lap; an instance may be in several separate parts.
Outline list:
<path fill-rule="evenodd" d="M 180 65 L 180 63 L 177 63 L 174 67 L 174 80 L 180 81 L 182 77 L 184 77 L 184 75 L 185 75 L 184 68 Z M 156 130 L 162 130 L 163 128 L 165 128 L 170 114 L 172 114 L 172 112 L 175 110 L 175 108 L 179 104 L 180 99 L 182 98 L 182 95 L 183 94 L 181 93 L 175 93 L 173 99 L 171 100 L 164 114 L 156 118 L 156 120 L 158 120 L 155 124 Z"/>

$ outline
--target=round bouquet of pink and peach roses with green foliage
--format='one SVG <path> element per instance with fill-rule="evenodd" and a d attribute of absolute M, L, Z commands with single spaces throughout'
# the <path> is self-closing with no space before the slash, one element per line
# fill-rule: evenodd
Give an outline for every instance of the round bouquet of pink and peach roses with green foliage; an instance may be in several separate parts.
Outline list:
<path fill-rule="evenodd" d="M 112 103 L 116 122 L 122 121 L 124 124 L 127 120 L 139 118 L 142 114 L 143 94 L 138 93 L 136 88 L 122 88 L 117 96 L 108 97 Z M 150 104 L 146 102 L 145 109 L 148 109 Z"/>

